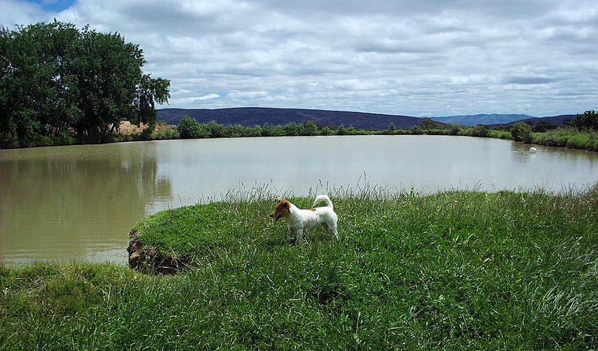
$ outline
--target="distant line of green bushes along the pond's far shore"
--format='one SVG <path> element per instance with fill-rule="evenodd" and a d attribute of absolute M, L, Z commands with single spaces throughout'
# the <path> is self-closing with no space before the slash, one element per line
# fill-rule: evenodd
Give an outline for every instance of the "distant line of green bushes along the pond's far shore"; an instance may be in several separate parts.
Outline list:
<path fill-rule="evenodd" d="M 545 126 L 526 122 L 516 122 L 491 129 L 489 126 L 460 126 L 442 124 L 430 118 L 424 118 L 420 126 L 408 129 L 397 129 L 390 123 L 382 131 L 366 131 L 353 126 L 320 126 L 313 121 L 305 123 L 291 122 L 287 124 L 263 124 L 261 126 L 242 126 L 241 124 L 219 124 L 215 121 L 199 123 L 189 116 L 183 117 L 178 126 L 157 122 L 155 128 L 141 127 L 124 122 L 105 142 L 142 141 L 163 139 L 203 139 L 223 137 L 295 137 L 325 135 L 461 135 L 467 137 L 491 137 L 496 139 L 512 139 L 528 144 L 546 146 L 562 146 L 583 150 L 598 151 L 598 114 L 586 111 L 578 115 L 571 123 L 555 126 L 546 130 Z M 543 131 L 538 131 L 542 128 Z M 80 144 L 76 135 L 67 137 L 44 137 L 40 146 Z"/>

